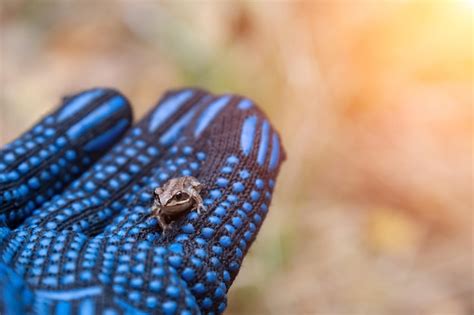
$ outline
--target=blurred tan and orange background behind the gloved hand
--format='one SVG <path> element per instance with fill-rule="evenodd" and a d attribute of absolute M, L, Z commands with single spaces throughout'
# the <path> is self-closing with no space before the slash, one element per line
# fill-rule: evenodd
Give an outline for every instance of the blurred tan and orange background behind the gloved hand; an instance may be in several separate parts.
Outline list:
<path fill-rule="evenodd" d="M 472 314 L 474 1 L 0 4 L 0 144 L 93 86 L 256 100 L 288 153 L 227 314 Z"/>

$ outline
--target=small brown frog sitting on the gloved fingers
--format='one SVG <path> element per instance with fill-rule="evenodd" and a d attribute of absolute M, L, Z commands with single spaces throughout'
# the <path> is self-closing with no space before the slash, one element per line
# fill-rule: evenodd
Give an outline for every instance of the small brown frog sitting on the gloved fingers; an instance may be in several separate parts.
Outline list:
<path fill-rule="evenodd" d="M 195 177 L 184 176 L 172 178 L 162 187 L 154 191 L 153 216 L 166 231 L 169 225 L 178 217 L 192 210 L 206 211 L 199 193 L 204 188 Z"/>

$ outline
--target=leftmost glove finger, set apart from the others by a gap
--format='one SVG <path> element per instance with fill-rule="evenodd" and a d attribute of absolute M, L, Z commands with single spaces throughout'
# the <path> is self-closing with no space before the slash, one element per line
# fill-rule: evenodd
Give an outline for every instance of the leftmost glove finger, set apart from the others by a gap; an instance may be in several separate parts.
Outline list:
<path fill-rule="evenodd" d="M 111 89 L 66 97 L 0 151 L 0 221 L 16 226 L 78 177 L 129 127 L 128 100 Z"/>

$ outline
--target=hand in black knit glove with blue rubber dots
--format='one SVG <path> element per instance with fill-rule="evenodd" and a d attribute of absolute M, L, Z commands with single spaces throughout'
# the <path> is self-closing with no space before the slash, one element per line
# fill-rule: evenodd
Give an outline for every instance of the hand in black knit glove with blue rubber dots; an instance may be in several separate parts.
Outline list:
<path fill-rule="evenodd" d="M 130 124 L 122 95 L 89 90 L 0 152 L 1 314 L 224 311 L 285 156 L 277 133 L 252 101 L 198 89 Z M 180 176 L 205 185 L 207 211 L 163 233 L 153 191 Z"/>

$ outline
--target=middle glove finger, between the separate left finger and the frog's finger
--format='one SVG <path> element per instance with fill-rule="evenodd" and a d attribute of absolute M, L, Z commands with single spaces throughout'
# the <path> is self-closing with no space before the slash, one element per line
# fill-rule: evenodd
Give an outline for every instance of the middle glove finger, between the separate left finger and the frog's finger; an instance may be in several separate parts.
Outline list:
<path fill-rule="evenodd" d="M 96 234 L 135 197 L 134 192 L 146 185 L 162 154 L 179 137 L 196 106 L 206 97 L 210 95 L 198 89 L 167 93 L 155 109 L 61 196 L 35 210 L 26 225 Z"/>

